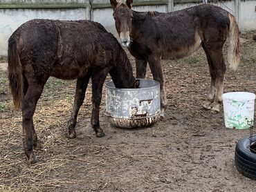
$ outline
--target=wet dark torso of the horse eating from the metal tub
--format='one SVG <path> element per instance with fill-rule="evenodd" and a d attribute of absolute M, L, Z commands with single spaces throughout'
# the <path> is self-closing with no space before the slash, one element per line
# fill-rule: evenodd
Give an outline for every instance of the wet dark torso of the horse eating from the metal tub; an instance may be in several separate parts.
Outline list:
<path fill-rule="evenodd" d="M 113 35 L 93 21 L 33 19 L 17 34 L 21 64 L 60 79 L 84 77 L 93 68 L 110 64 L 113 52 L 118 52 Z"/>

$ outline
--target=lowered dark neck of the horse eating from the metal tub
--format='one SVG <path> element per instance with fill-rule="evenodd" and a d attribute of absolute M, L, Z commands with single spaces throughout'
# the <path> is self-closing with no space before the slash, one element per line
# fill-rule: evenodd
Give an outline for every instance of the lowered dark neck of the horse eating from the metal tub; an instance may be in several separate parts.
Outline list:
<path fill-rule="evenodd" d="M 131 63 L 122 48 L 120 48 L 120 55 L 117 56 L 116 65 L 111 70 L 111 77 L 116 88 L 132 88 L 136 80 Z"/>

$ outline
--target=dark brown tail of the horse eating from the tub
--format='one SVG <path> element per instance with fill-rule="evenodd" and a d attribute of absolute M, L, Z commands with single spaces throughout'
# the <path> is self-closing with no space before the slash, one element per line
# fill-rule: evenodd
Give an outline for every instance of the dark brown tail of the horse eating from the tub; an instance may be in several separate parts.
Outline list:
<path fill-rule="evenodd" d="M 21 101 L 23 97 L 23 75 L 22 66 L 19 59 L 18 44 L 19 35 L 17 31 L 12 34 L 8 40 L 8 79 L 10 93 L 12 94 L 13 103 L 15 108 L 21 108 Z"/>

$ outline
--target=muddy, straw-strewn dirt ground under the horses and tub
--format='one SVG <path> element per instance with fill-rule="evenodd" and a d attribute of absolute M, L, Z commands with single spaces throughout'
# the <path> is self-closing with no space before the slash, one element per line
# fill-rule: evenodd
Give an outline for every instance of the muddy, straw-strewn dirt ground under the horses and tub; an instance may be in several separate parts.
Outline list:
<path fill-rule="evenodd" d="M 224 92 L 256 93 L 255 53 L 252 33 L 241 35 L 241 65 L 235 72 L 228 68 Z M 234 162 L 235 145 L 249 131 L 225 128 L 222 108 L 217 115 L 202 108 L 210 85 L 203 50 L 162 64 L 165 119 L 149 128 L 113 127 L 104 116 L 103 97 L 102 138 L 90 125 L 91 87 L 77 138 L 66 138 L 75 81 L 50 79 L 33 118 L 44 146 L 35 151 L 39 162 L 32 165 L 23 151 L 21 113 L 12 109 L 1 70 L 0 191 L 256 191 L 256 182 L 241 175 Z"/>

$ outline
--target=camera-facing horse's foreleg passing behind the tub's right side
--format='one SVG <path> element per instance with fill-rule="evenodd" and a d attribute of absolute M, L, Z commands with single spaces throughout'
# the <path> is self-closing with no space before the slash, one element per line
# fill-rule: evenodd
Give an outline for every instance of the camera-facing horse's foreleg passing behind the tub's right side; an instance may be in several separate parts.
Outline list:
<path fill-rule="evenodd" d="M 167 99 L 165 93 L 165 80 L 163 78 L 163 70 L 161 66 L 161 58 L 157 55 L 149 55 L 148 57 L 149 67 L 154 77 L 154 80 L 160 82 L 161 88 L 161 114 L 160 118 L 165 117 L 165 110 L 167 106 Z"/>

